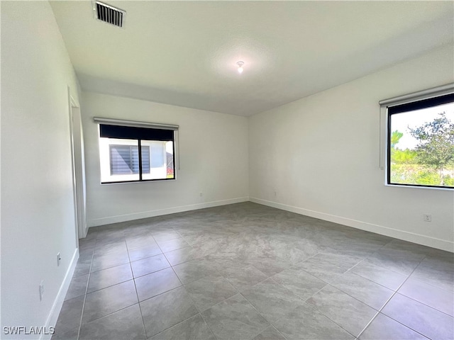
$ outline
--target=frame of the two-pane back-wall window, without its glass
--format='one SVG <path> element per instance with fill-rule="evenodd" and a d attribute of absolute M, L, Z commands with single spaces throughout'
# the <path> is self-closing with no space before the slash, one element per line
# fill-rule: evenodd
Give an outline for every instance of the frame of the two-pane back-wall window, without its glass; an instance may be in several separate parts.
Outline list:
<path fill-rule="evenodd" d="M 170 125 L 170 124 L 160 124 L 160 123 L 146 123 L 146 122 L 135 122 L 135 121 L 130 121 L 130 120 L 116 120 L 112 118 L 94 118 L 94 122 L 98 124 L 98 141 L 99 141 L 99 160 L 100 160 L 100 183 L 101 185 L 109 185 L 109 184 L 118 184 L 118 183 L 141 183 L 141 182 L 154 182 L 154 181 L 176 181 L 177 180 L 177 164 L 179 166 L 179 161 L 177 157 L 177 142 L 178 142 L 178 125 Z M 145 139 L 145 138 L 119 138 L 119 137 L 106 137 L 109 139 L 118 139 L 119 141 L 121 140 L 135 140 L 137 141 L 137 147 L 138 147 L 138 166 L 139 166 L 139 171 L 138 171 L 138 176 L 139 179 L 133 179 L 133 180 L 124 180 L 124 181 L 102 181 L 102 164 L 101 164 L 101 125 L 115 125 L 116 127 L 130 127 L 130 128 L 148 128 L 148 129 L 160 129 L 160 130 L 172 130 L 172 140 L 158 140 L 158 139 Z M 167 132 L 170 133 L 170 132 Z M 172 159 L 173 159 L 173 164 L 172 164 L 172 170 L 173 170 L 173 177 L 172 178 L 160 178 L 160 179 L 143 179 L 143 171 L 142 171 L 142 142 L 143 141 L 149 141 L 149 142 L 172 142 Z M 115 145 L 115 144 L 114 144 Z M 119 144 L 122 145 L 122 144 Z M 110 154 L 110 146 L 109 145 L 109 167 L 111 166 L 111 154 Z M 132 145 L 131 145 L 132 146 Z M 134 145 L 135 146 L 135 145 Z M 164 152 L 165 157 L 167 157 L 167 153 Z M 150 173 L 151 173 L 151 148 L 150 148 Z M 166 158 L 167 159 L 167 158 Z M 165 163 L 167 165 L 167 162 Z M 167 174 L 167 167 L 166 167 L 166 174 Z M 145 175 L 148 175 L 146 173 Z M 112 176 L 112 175 L 111 175 Z M 115 175 L 115 176 L 121 176 L 121 174 Z M 126 174 L 128 176 L 128 174 Z"/>

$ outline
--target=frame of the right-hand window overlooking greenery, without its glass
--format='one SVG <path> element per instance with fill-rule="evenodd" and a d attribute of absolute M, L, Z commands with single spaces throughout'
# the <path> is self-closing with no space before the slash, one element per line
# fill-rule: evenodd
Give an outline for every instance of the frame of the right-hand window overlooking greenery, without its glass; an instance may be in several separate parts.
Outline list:
<path fill-rule="evenodd" d="M 395 98 L 389 98 L 384 101 L 380 101 L 380 169 L 384 170 L 384 185 L 391 187 L 409 187 L 409 188 L 428 188 L 438 190 L 450 190 L 453 191 L 452 186 L 430 186 L 425 184 L 417 183 L 392 183 L 391 181 L 391 118 L 392 115 L 404 112 L 416 111 L 422 108 L 430 108 L 443 103 L 454 103 L 450 101 L 438 101 L 443 96 L 454 96 L 454 84 L 446 84 L 443 86 L 437 86 L 432 89 L 426 89 L 418 91 L 413 94 L 406 94 L 404 96 L 398 96 Z M 428 105 L 430 103 L 430 105 Z M 404 108 L 400 112 L 395 111 L 396 108 Z"/>

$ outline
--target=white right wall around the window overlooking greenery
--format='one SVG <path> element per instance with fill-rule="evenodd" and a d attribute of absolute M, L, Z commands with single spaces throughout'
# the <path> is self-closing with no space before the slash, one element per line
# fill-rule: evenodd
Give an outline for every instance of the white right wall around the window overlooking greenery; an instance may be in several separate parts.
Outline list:
<path fill-rule="evenodd" d="M 251 200 L 453 251 L 453 191 L 384 186 L 378 105 L 448 84 L 453 68 L 448 46 L 254 115 Z"/>

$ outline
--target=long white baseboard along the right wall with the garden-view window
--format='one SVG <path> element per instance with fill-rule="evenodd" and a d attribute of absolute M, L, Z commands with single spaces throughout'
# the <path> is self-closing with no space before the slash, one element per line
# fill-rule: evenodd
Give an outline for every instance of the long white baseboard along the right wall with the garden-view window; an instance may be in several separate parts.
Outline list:
<path fill-rule="evenodd" d="M 352 220 L 350 218 L 330 215 L 325 212 L 318 212 L 314 210 L 308 210 L 304 208 L 294 207 L 293 205 L 286 205 L 282 203 L 272 202 L 270 200 L 261 200 L 260 198 L 250 198 L 251 202 L 267 205 L 272 208 L 277 208 L 281 210 L 287 210 L 290 212 L 295 212 L 300 215 L 306 215 L 309 217 L 319 218 L 320 220 L 325 220 L 329 222 L 338 223 L 340 225 L 346 225 L 348 227 L 353 227 L 367 232 L 375 232 L 376 234 L 382 234 L 389 237 L 394 237 L 395 239 L 402 239 L 404 241 L 413 242 L 417 244 L 422 244 L 423 246 L 430 246 L 432 248 L 441 249 L 445 251 L 454 252 L 454 242 L 445 241 L 444 239 L 437 239 L 435 237 L 428 237 L 426 235 L 415 234 L 413 232 L 405 232 L 404 230 L 393 229 L 389 227 L 384 227 L 382 225 L 374 225 L 368 222 L 362 222 L 358 220 Z"/>

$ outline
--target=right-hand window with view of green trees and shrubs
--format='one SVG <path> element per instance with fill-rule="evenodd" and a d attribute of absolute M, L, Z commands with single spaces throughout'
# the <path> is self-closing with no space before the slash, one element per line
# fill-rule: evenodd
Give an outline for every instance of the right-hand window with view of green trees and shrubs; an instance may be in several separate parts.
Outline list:
<path fill-rule="evenodd" d="M 454 188 L 454 94 L 387 107 L 387 184 Z"/>

